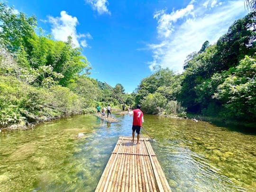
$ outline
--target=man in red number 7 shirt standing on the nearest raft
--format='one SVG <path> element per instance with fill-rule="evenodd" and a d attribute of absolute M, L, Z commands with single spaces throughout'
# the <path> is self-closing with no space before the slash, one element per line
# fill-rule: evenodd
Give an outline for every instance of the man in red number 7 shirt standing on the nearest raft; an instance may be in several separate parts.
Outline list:
<path fill-rule="evenodd" d="M 129 109 L 128 109 L 129 110 Z M 140 104 L 137 105 L 136 110 L 129 110 L 129 114 L 133 114 L 133 122 L 132 122 L 132 142 L 134 142 L 135 130 L 137 133 L 137 144 L 139 144 L 139 131 L 144 122 L 143 112 L 140 110 Z"/>

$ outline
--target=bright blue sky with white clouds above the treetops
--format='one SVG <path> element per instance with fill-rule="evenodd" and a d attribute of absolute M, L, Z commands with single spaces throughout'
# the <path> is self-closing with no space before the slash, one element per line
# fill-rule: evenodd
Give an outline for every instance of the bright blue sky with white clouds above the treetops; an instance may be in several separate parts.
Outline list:
<path fill-rule="evenodd" d="M 182 73 L 186 56 L 214 44 L 238 18 L 244 0 L 8 0 L 35 14 L 56 40 L 73 37 L 91 77 L 132 92 L 154 68 Z"/>

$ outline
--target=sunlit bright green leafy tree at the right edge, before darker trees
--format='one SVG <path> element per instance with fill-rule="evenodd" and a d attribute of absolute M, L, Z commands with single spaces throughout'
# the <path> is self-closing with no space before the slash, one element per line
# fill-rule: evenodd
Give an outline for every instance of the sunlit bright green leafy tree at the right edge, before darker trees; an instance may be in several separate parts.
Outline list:
<path fill-rule="evenodd" d="M 224 103 L 225 116 L 255 121 L 256 59 L 246 56 L 238 66 L 230 68 L 228 73 L 214 97 Z"/>

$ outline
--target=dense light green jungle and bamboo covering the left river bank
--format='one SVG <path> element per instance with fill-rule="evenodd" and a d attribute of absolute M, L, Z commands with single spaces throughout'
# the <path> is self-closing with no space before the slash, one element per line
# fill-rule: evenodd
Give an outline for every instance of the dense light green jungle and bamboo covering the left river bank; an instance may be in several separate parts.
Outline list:
<path fill-rule="evenodd" d="M 36 16 L 15 14 L 4 3 L 0 27 L 0 127 L 93 113 L 109 103 L 120 108 L 112 91 L 89 77 L 91 65 L 71 37 L 52 39 L 37 28 Z M 114 90 L 132 104 L 120 83 Z"/>

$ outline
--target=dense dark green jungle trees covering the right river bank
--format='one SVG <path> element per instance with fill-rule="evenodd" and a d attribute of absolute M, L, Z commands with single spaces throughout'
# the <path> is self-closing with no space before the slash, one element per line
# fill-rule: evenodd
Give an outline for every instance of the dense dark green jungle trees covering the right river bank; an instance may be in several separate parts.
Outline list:
<path fill-rule="evenodd" d="M 159 69 L 143 79 L 136 101 L 151 113 L 187 112 L 254 122 L 256 12 L 240 18 L 216 44 L 205 41 L 187 56 L 184 72 Z"/>

